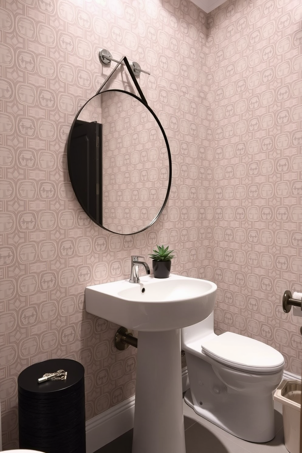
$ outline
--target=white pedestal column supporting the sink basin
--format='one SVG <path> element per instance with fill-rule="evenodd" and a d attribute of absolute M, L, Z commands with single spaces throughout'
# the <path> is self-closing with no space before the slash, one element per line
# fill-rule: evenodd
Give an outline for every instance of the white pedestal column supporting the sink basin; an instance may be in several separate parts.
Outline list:
<path fill-rule="evenodd" d="M 139 332 L 132 453 L 186 453 L 180 329 Z"/>

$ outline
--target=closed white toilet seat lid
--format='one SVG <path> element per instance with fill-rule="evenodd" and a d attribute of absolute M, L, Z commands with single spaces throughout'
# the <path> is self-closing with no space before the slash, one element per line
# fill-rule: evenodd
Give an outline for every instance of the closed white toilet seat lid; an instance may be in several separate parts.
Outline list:
<path fill-rule="evenodd" d="M 233 332 L 201 343 L 206 355 L 239 370 L 269 373 L 283 368 L 284 358 L 268 344 Z"/>

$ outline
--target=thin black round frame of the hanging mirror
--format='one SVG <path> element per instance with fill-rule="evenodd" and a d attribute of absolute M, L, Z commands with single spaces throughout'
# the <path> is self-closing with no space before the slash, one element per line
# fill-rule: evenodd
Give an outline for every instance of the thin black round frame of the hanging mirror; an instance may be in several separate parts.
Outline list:
<path fill-rule="evenodd" d="M 130 93 L 128 91 L 125 91 L 125 90 L 118 90 L 118 89 L 112 89 L 112 90 L 105 90 L 105 91 L 101 91 L 101 92 L 97 92 L 94 96 L 92 96 L 90 99 L 88 99 L 88 101 L 85 102 L 85 104 L 80 108 L 80 110 L 77 112 L 77 115 L 75 117 L 75 119 L 73 120 L 72 122 L 72 125 L 71 125 L 71 128 L 70 128 L 70 132 L 69 132 L 69 135 L 68 135 L 68 141 L 67 141 L 67 165 L 68 165 L 68 174 L 69 174 L 69 178 L 70 178 L 70 182 L 72 184 L 72 188 L 73 188 L 73 191 L 77 197 L 77 192 L 75 190 L 75 187 L 76 187 L 76 182 L 73 180 L 72 178 L 72 173 L 71 173 L 71 159 L 72 159 L 72 150 L 71 150 L 71 138 L 72 138 L 72 130 L 73 130 L 73 127 L 77 121 L 77 118 L 78 116 L 80 115 L 81 111 L 83 110 L 83 108 L 88 104 L 88 102 L 90 102 L 93 98 L 95 98 L 96 96 L 99 96 L 101 95 L 102 93 L 106 93 L 106 92 L 120 92 L 120 93 L 125 93 L 129 96 L 132 96 L 134 97 L 134 99 L 136 99 L 137 101 L 141 102 L 148 110 L 149 112 L 151 113 L 151 115 L 153 115 L 155 121 L 157 122 L 162 134 L 163 134 L 163 138 L 165 140 L 165 144 L 166 144 L 166 148 L 167 148 L 167 153 L 168 153 L 168 162 L 169 162 L 169 178 L 168 178 L 168 187 L 167 187 L 167 193 L 166 193 L 166 197 L 163 201 L 163 205 L 162 207 L 160 208 L 160 210 L 158 211 L 158 214 L 156 215 L 156 217 L 154 217 L 154 219 L 152 220 L 152 222 L 150 222 L 147 226 L 145 226 L 144 228 L 142 228 L 141 230 L 139 231 L 134 231 L 132 233 L 119 233 L 117 231 L 111 231 L 111 230 L 108 230 L 108 228 L 106 228 L 105 226 L 101 225 L 101 223 L 98 223 L 96 222 L 96 220 L 91 217 L 91 215 L 89 214 L 89 212 L 86 211 L 86 208 L 84 208 L 84 206 L 81 204 L 81 202 L 79 201 L 79 199 L 77 198 L 78 202 L 80 203 L 81 205 L 81 208 L 83 209 L 84 212 L 86 212 L 87 216 L 91 218 L 92 222 L 94 222 L 96 225 L 98 226 L 101 226 L 101 228 L 103 228 L 104 230 L 106 231 L 109 231 L 110 233 L 113 233 L 113 234 L 119 234 L 120 236 L 131 236 L 133 234 L 138 234 L 138 233 L 141 233 L 142 231 L 145 231 L 147 230 L 147 228 L 149 228 L 151 225 L 153 225 L 154 222 L 157 221 L 158 217 L 161 215 L 161 213 L 163 212 L 163 209 L 164 207 L 166 206 L 167 204 L 167 201 L 168 201 L 168 198 L 169 198 L 169 194 L 170 194 L 170 189 L 171 189 L 171 182 L 172 182 L 172 159 L 171 159 L 171 151 L 170 151 L 170 147 L 169 147 L 169 143 L 168 143 L 168 138 L 167 138 L 167 135 L 165 133 L 165 131 L 163 130 L 163 126 L 161 125 L 160 121 L 158 120 L 158 117 L 155 115 L 154 111 L 149 107 L 149 105 L 147 104 L 147 102 L 144 102 L 140 97 L 136 96 L 134 93 Z M 100 188 L 100 195 L 102 195 L 103 193 L 103 190 L 101 190 L 102 188 Z M 102 202 L 102 200 L 101 200 Z"/>

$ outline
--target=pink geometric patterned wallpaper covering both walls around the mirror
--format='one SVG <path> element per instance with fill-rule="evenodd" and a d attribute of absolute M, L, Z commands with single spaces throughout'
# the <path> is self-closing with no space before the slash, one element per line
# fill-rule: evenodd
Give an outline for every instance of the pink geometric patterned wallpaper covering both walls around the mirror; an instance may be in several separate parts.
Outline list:
<path fill-rule="evenodd" d="M 134 395 L 136 350 L 85 311 L 87 285 L 127 278 L 130 255 L 175 249 L 172 272 L 218 285 L 216 332 L 242 333 L 301 372 L 302 1 L 0 0 L 0 400 L 18 446 L 17 377 L 56 357 L 85 367 L 86 419 Z M 168 203 L 148 230 L 93 224 L 74 196 L 67 137 L 110 67 L 139 84 L 168 136 Z M 130 82 L 120 73 L 128 91 Z M 149 258 L 149 265 L 151 261 Z"/>

